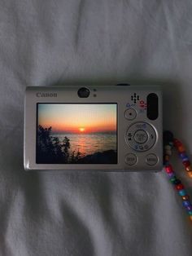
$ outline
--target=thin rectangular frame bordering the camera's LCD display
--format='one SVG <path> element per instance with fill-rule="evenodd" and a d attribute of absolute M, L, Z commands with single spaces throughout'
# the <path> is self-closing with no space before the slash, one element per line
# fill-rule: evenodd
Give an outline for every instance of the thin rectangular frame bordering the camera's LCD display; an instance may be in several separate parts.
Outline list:
<path fill-rule="evenodd" d="M 89 104 L 94 104 L 94 105 L 107 105 L 107 104 L 113 104 L 113 105 L 116 105 L 116 163 L 66 163 L 66 164 L 61 164 L 61 163 L 39 163 L 37 162 L 37 127 L 38 127 L 38 105 L 40 104 L 86 104 L 86 105 L 89 105 Z M 107 102 L 107 103 L 104 103 L 104 102 L 92 102 L 92 103 L 74 103 L 74 102 L 66 102 L 66 103 L 63 103 L 63 102 L 37 102 L 36 104 L 36 154 L 35 154 L 35 163 L 36 165 L 62 165 L 62 166 L 72 166 L 72 165 L 75 165 L 75 166 L 94 166 L 94 165 L 97 165 L 97 166 L 108 166 L 108 165 L 112 165 L 112 166 L 116 166 L 119 164 L 119 152 L 118 152 L 118 103 L 117 102 Z"/>

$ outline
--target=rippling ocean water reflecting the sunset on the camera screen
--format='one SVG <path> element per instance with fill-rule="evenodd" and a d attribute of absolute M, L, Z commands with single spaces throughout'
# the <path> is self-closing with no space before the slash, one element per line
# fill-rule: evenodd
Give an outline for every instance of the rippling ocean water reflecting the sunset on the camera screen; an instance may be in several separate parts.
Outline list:
<path fill-rule="evenodd" d="M 59 134 L 52 135 L 58 137 L 62 142 L 64 137 L 70 139 L 69 152 L 81 152 L 84 156 L 94 154 L 95 152 L 103 152 L 106 150 L 116 151 L 116 134 L 97 133 L 97 134 Z"/>

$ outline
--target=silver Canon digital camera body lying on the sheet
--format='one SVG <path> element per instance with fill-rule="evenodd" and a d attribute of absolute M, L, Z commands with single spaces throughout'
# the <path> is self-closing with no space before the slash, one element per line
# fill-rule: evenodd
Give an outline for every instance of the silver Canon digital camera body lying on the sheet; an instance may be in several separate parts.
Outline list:
<path fill-rule="evenodd" d="M 159 171 L 163 168 L 158 86 L 29 86 L 24 169 Z"/>

